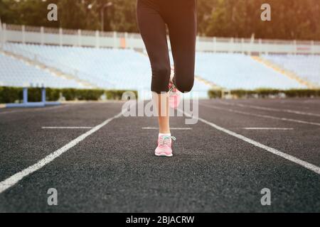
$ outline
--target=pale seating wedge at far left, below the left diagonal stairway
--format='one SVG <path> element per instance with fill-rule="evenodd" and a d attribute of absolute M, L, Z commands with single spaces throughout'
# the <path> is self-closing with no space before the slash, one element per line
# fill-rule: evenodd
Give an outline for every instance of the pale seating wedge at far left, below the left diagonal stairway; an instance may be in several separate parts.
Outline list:
<path fill-rule="evenodd" d="M 75 87 L 82 88 L 77 82 L 56 77 L 50 72 L 27 65 L 21 60 L 0 54 L 0 83 L 7 87 Z"/>

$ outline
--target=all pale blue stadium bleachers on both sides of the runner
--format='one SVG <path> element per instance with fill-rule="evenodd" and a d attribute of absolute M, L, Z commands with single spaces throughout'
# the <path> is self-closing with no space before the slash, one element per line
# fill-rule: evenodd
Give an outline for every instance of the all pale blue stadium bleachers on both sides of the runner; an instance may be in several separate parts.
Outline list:
<path fill-rule="evenodd" d="M 57 45 L 6 43 L 4 50 L 103 89 L 149 90 L 151 69 L 146 55 L 130 49 L 85 48 Z M 319 84 L 319 56 L 264 55 L 281 67 L 297 72 Z M 172 60 L 172 57 L 171 57 Z M 45 84 L 46 87 L 80 88 L 81 84 L 55 77 L 49 72 L 1 55 L 0 81 L 21 87 L 25 83 Z M 312 67 L 310 67 L 312 65 Z M 197 52 L 196 75 L 224 89 L 297 89 L 306 88 L 294 79 L 272 70 L 243 54 Z M 210 86 L 195 81 L 193 91 L 206 97 Z"/>

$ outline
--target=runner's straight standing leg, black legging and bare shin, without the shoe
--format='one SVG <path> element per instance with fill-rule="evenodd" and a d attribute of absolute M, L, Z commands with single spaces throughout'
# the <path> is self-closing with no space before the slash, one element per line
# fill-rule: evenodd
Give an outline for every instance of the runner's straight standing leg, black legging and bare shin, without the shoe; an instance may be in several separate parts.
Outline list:
<path fill-rule="evenodd" d="M 150 1 L 138 0 L 137 21 L 151 63 L 151 91 L 154 104 L 158 108 L 159 133 L 170 133 L 169 101 L 166 92 L 169 91 L 171 67 L 166 41 L 166 25 L 156 7 Z"/>

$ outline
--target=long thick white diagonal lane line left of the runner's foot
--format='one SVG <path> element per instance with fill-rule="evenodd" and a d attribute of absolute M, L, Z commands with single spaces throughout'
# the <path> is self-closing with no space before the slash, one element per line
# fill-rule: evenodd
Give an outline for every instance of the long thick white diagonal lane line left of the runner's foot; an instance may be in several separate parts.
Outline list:
<path fill-rule="evenodd" d="M 63 146 L 63 148 L 60 148 L 56 150 L 55 152 L 51 153 L 50 155 L 44 157 L 42 160 L 38 161 L 36 164 L 31 165 L 30 167 L 22 170 L 21 172 L 17 172 L 15 175 L 12 175 L 11 177 L 5 179 L 4 181 L 0 182 L 0 194 L 4 192 L 6 189 L 9 189 L 10 187 L 17 184 L 23 177 L 26 177 L 30 175 L 33 172 L 36 172 L 37 170 L 40 170 L 43 166 L 47 165 L 48 163 L 55 160 L 55 158 L 59 157 L 63 153 L 65 153 L 70 148 L 73 148 L 75 145 L 80 143 L 82 140 L 87 138 L 92 133 L 95 133 L 103 126 L 107 125 L 107 123 L 110 123 L 110 121 L 119 118 L 122 116 L 122 113 L 117 114 L 116 116 L 113 116 L 112 118 L 107 119 L 106 121 L 100 123 L 100 125 L 95 126 L 90 131 L 87 131 L 86 133 L 80 135 L 78 138 L 75 138 L 74 140 L 70 141 L 67 145 Z"/>

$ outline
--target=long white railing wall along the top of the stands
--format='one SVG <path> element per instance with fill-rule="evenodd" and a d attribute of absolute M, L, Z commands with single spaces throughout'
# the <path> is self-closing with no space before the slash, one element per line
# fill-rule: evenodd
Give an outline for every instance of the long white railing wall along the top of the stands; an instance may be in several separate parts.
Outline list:
<path fill-rule="evenodd" d="M 143 49 L 138 33 L 81 31 L 33 26 L 0 26 L 1 46 L 6 42 L 40 45 L 72 45 L 95 48 Z M 168 40 L 170 43 L 170 40 Z M 170 49 L 169 45 L 169 49 Z M 313 40 L 265 40 L 255 38 L 197 38 L 198 51 L 241 52 L 245 54 L 309 54 L 320 55 L 320 42 Z"/>

